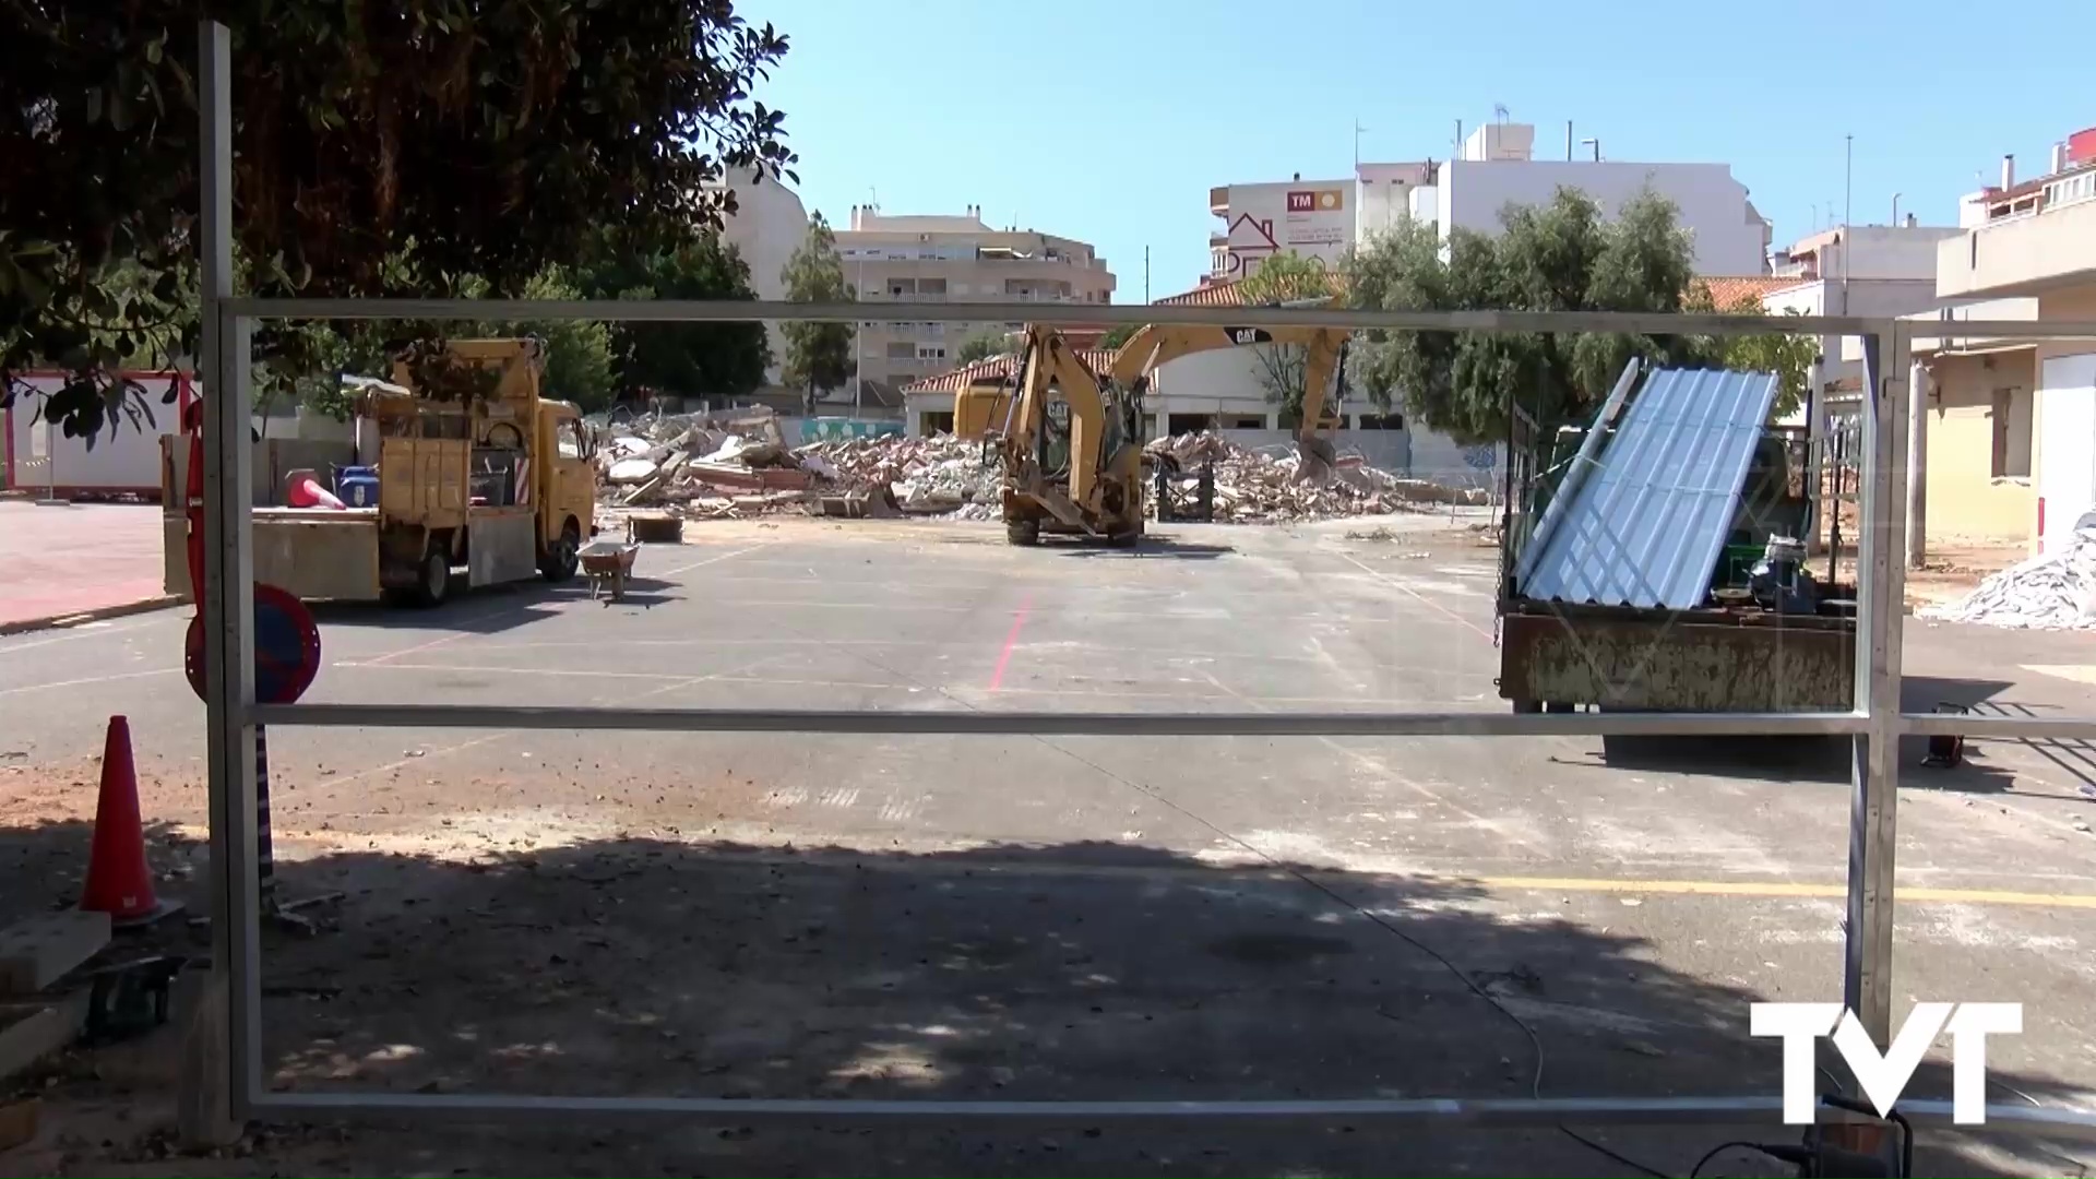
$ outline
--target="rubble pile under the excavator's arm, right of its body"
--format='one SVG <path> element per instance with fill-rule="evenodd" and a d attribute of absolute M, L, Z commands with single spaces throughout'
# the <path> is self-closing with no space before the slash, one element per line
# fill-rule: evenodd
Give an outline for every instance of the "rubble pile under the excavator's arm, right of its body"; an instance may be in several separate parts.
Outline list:
<path fill-rule="evenodd" d="M 1144 453 L 1178 464 L 1172 485 L 1178 495 L 1188 497 L 1199 485 L 1201 470 L 1214 464 L 1216 518 L 1232 522 L 1381 516 L 1417 512 L 1429 503 L 1486 501 L 1484 491 L 1400 478 L 1367 466 L 1358 455 L 1341 455 L 1325 483 L 1304 480 L 1297 478 L 1295 447 L 1253 451 L 1216 432 L 1157 438 Z"/>

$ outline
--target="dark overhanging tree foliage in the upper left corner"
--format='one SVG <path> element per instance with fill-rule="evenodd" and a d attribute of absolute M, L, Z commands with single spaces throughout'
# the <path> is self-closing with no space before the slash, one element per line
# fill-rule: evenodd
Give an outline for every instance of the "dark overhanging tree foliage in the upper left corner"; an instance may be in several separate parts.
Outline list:
<path fill-rule="evenodd" d="M 67 369 L 42 409 L 69 436 L 132 407 L 122 365 L 195 350 L 203 15 L 233 29 L 243 294 L 520 290 L 599 227 L 713 227 L 723 166 L 794 159 L 750 97 L 786 38 L 732 0 L 4 4 L 0 401 Z M 256 340 L 302 378 L 327 346 Z"/>

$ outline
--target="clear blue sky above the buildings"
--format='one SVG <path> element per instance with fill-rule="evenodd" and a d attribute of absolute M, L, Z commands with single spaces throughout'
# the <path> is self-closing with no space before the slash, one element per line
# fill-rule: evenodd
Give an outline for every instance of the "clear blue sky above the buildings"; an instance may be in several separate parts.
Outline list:
<path fill-rule="evenodd" d="M 1731 164 L 1775 241 L 1853 220 L 1956 224 L 1977 172 L 2046 168 L 2096 126 L 2096 0 L 742 0 L 790 40 L 759 99 L 786 111 L 801 197 L 843 224 L 962 212 L 1092 241 L 1115 302 L 1207 271 L 1211 185 L 1446 159 L 1501 103 L 1562 151 Z M 1578 13 L 1612 13 L 1610 19 Z"/>

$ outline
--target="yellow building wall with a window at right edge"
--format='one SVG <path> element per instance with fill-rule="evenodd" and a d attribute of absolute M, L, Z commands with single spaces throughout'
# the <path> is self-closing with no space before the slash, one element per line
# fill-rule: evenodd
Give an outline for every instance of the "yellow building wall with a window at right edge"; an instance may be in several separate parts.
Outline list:
<path fill-rule="evenodd" d="M 2031 541 L 2035 455 L 2029 476 L 1993 474 L 1993 392 L 2014 388 L 2031 396 L 2031 352 L 1937 357 L 1930 378 L 1928 535 Z"/>

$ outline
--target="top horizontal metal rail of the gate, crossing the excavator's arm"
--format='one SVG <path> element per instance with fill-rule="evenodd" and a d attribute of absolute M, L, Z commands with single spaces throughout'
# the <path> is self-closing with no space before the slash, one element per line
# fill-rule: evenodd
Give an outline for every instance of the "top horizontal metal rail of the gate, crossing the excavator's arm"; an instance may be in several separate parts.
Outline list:
<path fill-rule="evenodd" d="M 1882 321 L 1786 315 L 1656 315 L 1589 310 L 1364 310 L 1323 306 L 1159 306 L 1071 302 L 769 302 L 769 300 L 470 300 L 470 298 L 233 298 L 243 319 L 511 319 L 627 323 L 1086 323 L 1385 327 L 1406 331 L 1629 331 L 1645 336 L 1863 336 Z M 2096 327 L 2090 331 L 2096 336 Z"/>

